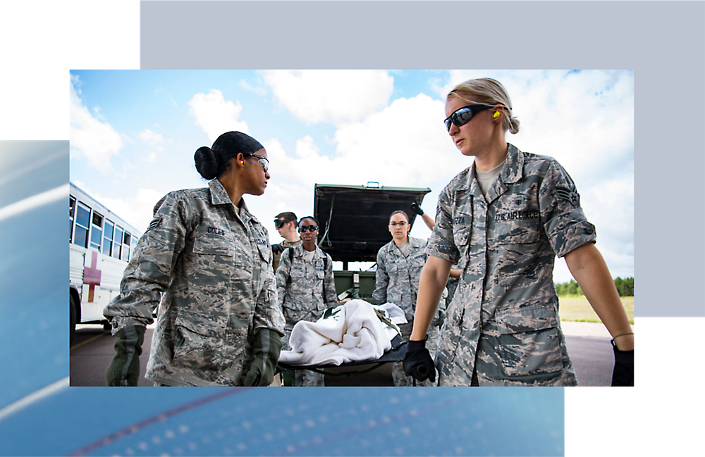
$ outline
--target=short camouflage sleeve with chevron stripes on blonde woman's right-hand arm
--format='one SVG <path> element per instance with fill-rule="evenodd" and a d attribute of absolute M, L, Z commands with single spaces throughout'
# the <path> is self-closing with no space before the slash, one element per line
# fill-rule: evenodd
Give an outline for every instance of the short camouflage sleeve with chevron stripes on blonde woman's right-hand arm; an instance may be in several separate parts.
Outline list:
<path fill-rule="evenodd" d="M 541 182 L 539 211 L 548 241 L 558 257 L 583 244 L 595 242 L 595 226 L 588 222 L 580 207 L 575 183 L 556 161 L 548 164 Z"/>

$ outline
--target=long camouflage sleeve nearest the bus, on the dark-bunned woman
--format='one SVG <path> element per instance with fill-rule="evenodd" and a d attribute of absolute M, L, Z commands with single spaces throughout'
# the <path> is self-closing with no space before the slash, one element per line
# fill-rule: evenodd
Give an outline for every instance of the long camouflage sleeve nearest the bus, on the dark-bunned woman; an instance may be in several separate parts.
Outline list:
<path fill-rule="evenodd" d="M 152 313 L 171 282 L 191 215 L 190 204 L 181 192 L 168 194 L 155 209 L 152 223 L 125 268 L 120 294 L 103 310 L 113 334 L 126 325 L 146 326 L 154 322 Z"/>

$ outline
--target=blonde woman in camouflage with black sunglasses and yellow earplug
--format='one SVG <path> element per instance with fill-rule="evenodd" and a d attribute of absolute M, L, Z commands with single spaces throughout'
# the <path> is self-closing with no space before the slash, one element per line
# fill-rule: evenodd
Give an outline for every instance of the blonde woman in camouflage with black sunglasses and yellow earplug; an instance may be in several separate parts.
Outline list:
<path fill-rule="evenodd" d="M 613 336 L 612 385 L 633 386 L 634 333 L 568 173 L 506 142 L 519 121 L 495 80 L 458 84 L 446 115 L 455 146 L 474 161 L 439 196 L 407 371 L 424 379 L 435 366 L 443 386 L 575 386 L 553 287 L 559 256 Z M 453 263 L 462 275 L 434 364 L 424 336 Z"/>

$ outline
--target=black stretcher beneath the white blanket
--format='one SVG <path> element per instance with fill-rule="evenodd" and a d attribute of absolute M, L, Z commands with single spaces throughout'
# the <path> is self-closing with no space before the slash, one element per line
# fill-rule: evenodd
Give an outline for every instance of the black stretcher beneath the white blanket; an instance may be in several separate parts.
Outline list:
<path fill-rule="evenodd" d="M 290 365 L 288 363 L 279 362 L 276 365 L 276 373 L 281 375 L 281 382 L 284 386 L 294 385 L 293 377 L 295 370 L 309 370 L 332 377 L 353 377 L 364 375 L 365 373 L 369 373 L 377 368 L 380 368 L 386 363 L 394 363 L 404 360 L 404 356 L 406 356 L 406 342 L 402 339 L 402 337 L 397 334 L 391 340 L 391 344 L 391 349 L 382 354 L 380 358 L 374 360 L 348 362 L 342 363 L 341 365 Z M 372 367 L 367 368 L 367 365 L 372 365 Z M 330 370 L 332 368 L 335 368 L 336 372 L 340 373 L 331 373 Z M 341 368 L 344 369 L 342 372 L 340 370 Z"/>

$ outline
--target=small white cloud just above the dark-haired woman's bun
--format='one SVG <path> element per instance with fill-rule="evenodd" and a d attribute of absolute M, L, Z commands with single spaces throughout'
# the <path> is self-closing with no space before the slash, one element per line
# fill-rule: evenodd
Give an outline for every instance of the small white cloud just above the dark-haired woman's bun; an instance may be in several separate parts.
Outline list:
<path fill-rule="evenodd" d="M 247 123 L 238 121 L 243 106 L 240 102 L 233 103 L 223 97 L 223 92 L 211 89 L 208 94 L 195 94 L 188 102 L 189 114 L 195 118 L 195 123 L 214 142 L 221 134 L 236 130 L 250 133 Z"/>

